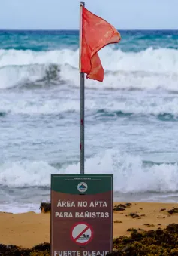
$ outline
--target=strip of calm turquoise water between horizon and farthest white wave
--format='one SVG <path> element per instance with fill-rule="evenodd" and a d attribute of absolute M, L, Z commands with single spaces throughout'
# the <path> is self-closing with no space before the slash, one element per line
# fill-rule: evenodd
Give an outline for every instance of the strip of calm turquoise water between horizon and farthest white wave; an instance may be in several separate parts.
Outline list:
<path fill-rule="evenodd" d="M 147 31 L 147 30 L 119 30 L 122 41 L 112 45 L 113 49 L 139 52 L 146 48 L 177 49 L 178 31 Z M 1 31 L 0 48 L 9 50 L 50 51 L 62 48 L 77 50 L 79 32 L 76 30 L 63 31 Z"/>

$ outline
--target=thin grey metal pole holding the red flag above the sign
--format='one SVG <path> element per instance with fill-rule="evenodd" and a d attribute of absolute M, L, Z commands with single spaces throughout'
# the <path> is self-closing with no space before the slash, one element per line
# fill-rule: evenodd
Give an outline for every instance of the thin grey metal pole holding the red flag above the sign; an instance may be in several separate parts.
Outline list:
<path fill-rule="evenodd" d="M 80 60 L 81 61 L 81 44 L 82 44 L 82 8 L 85 2 L 80 2 Z M 81 68 L 81 63 L 80 63 Z M 85 143 L 84 143 L 84 117 L 85 117 L 85 76 L 80 72 L 80 174 L 85 173 Z"/>

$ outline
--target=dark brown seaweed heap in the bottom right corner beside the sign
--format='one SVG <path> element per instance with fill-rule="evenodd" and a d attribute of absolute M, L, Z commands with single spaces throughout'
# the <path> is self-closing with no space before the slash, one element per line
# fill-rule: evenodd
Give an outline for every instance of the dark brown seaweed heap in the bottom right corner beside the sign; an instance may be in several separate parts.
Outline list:
<path fill-rule="evenodd" d="M 178 224 L 170 224 L 166 229 L 132 231 L 130 237 L 120 236 L 113 240 L 117 251 L 109 255 L 129 256 L 177 256 L 178 255 Z M 123 252 L 123 249 L 127 248 Z"/>

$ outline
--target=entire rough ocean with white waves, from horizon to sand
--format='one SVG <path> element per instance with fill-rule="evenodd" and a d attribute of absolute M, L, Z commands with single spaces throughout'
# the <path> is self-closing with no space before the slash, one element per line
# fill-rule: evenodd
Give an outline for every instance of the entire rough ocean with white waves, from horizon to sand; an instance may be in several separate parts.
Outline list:
<path fill-rule="evenodd" d="M 177 202 L 178 31 L 119 31 L 86 79 L 86 173 L 118 202 Z M 0 31 L 0 211 L 39 212 L 80 172 L 78 31 Z"/>

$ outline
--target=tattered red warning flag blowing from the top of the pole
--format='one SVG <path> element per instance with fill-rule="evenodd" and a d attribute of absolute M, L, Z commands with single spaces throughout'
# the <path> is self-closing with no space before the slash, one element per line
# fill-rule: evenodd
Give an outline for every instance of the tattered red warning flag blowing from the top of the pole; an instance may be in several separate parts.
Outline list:
<path fill-rule="evenodd" d="M 104 69 L 101 65 L 98 51 L 104 46 L 119 42 L 119 32 L 101 17 L 92 14 L 83 5 L 81 8 L 81 39 L 80 39 L 80 72 L 86 73 L 87 79 L 104 79 Z"/>

